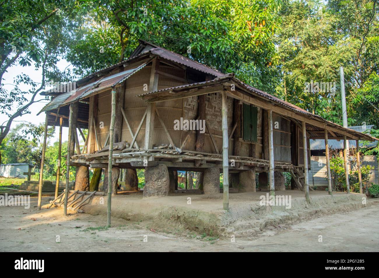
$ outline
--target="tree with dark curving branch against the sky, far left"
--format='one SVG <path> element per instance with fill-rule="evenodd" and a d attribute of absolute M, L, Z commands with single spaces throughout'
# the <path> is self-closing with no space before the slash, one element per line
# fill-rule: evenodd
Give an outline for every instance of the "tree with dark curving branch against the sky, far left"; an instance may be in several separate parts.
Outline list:
<path fill-rule="evenodd" d="M 70 18 L 77 14 L 74 0 L 14 0 L 0 5 L 0 112 L 8 120 L 0 126 L 0 145 L 11 129 L 13 121 L 30 113 L 29 107 L 44 89 L 47 79 L 63 81 L 69 73 L 61 73 L 56 64 L 64 52 L 72 27 Z M 27 74 L 18 75 L 11 90 L 3 84 L 4 73 L 15 64 L 41 68 L 41 82 Z M 26 84 L 29 90 L 20 89 Z M 38 101 L 38 100 L 37 100 Z M 1 162 L 1 153 L 0 153 Z"/>

